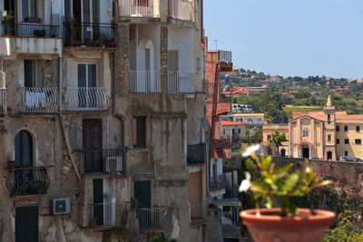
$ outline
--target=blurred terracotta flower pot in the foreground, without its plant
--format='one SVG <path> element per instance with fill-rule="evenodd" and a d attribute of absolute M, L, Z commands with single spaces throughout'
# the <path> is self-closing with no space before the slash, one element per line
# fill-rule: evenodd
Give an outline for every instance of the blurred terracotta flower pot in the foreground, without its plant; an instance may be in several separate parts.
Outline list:
<path fill-rule="evenodd" d="M 319 242 L 335 218 L 326 210 L 314 210 L 312 215 L 308 208 L 299 208 L 299 216 L 293 217 L 281 217 L 280 212 L 280 208 L 260 208 L 257 217 L 256 209 L 248 209 L 240 212 L 240 218 L 256 242 Z"/>

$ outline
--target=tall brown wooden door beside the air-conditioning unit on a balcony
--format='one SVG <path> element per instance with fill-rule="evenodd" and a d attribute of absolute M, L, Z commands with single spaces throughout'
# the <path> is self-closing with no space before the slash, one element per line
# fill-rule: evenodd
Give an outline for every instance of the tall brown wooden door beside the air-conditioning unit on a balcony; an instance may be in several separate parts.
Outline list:
<path fill-rule="evenodd" d="M 86 173 L 103 172 L 102 120 L 83 120 L 84 169 Z"/>

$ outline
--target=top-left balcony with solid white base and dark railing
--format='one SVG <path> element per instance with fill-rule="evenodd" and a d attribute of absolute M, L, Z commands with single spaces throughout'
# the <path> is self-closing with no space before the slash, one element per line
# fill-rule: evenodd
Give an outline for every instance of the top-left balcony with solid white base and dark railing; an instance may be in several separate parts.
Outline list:
<path fill-rule="evenodd" d="M 62 39 L 58 25 L 4 24 L 5 54 L 47 53 L 58 56 L 62 52 Z"/>

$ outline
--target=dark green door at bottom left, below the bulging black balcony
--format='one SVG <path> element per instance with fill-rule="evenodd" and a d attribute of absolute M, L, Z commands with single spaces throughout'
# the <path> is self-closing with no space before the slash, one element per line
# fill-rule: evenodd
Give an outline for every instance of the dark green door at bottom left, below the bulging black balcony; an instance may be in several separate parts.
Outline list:
<path fill-rule="evenodd" d="M 15 210 L 15 242 L 38 242 L 38 206 Z"/>

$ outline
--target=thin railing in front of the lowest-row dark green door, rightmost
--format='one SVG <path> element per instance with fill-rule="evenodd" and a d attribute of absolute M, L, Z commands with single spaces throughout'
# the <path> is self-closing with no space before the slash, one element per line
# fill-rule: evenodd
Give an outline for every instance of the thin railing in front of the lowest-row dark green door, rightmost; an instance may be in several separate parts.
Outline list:
<path fill-rule="evenodd" d="M 136 217 L 139 219 L 140 229 L 161 229 L 165 225 L 167 208 L 153 206 L 152 208 L 138 208 Z"/>

